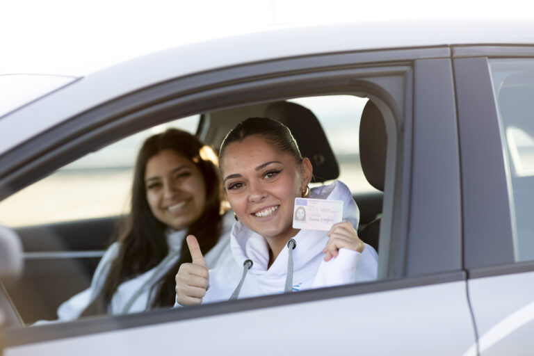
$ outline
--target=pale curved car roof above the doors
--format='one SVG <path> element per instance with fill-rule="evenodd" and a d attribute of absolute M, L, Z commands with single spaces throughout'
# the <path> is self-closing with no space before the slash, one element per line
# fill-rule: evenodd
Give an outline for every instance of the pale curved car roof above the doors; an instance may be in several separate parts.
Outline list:
<path fill-rule="evenodd" d="M 89 108 L 189 74 L 275 58 L 454 44 L 534 44 L 534 22 L 426 19 L 284 26 L 167 49 L 88 74 L 0 118 L 0 132 L 10 132 L 0 154 Z"/>

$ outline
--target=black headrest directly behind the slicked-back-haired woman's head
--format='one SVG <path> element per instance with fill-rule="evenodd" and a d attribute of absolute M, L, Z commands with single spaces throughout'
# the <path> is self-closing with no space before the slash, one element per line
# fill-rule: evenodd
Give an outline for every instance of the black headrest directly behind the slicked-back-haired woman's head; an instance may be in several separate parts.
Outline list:
<path fill-rule="evenodd" d="M 278 120 L 291 130 L 300 153 L 312 161 L 312 182 L 322 183 L 339 176 L 336 157 L 323 127 L 312 111 L 291 102 L 275 102 L 266 108 L 266 116 Z"/>

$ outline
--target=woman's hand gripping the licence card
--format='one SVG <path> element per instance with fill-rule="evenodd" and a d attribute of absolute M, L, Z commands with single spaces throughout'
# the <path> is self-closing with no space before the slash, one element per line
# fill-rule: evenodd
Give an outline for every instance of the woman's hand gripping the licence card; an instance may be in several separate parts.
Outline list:
<path fill-rule="evenodd" d="M 323 253 L 326 254 L 325 261 L 330 261 L 332 258 L 337 257 L 340 248 L 348 248 L 360 253 L 365 248 L 364 241 L 359 239 L 353 225 L 348 221 L 332 225 L 327 235 L 330 238 L 323 250 Z"/>

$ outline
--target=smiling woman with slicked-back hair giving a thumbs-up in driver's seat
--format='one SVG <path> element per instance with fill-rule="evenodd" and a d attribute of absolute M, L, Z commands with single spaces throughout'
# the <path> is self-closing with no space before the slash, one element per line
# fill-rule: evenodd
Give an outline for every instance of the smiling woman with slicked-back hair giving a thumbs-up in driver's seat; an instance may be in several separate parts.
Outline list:
<path fill-rule="evenodd" d="M 208 274 L 195 237 L 188 236 L 193 262 L 182 264 L 176 276 L 179 305 L 376 279 L 378 255 L 357 236 L 359 210 L 350 191 L 341 181 L 309 190 L 312 163 L 287 127 L 249 118 L 228 133 L 219 156 L 238 219 L 231 234 L 234 258 Z M 341 200 L 343 222 L 328 232 L 293 228 L 296 197 Z M 247 273 L 254 278 L 245 280 Z"/>

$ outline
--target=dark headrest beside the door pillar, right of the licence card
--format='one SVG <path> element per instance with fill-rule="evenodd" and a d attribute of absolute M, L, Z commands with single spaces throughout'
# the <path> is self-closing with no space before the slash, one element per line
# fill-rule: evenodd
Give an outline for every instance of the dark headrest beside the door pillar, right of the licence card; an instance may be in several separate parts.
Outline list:
<path fill-rule="evenodd" d="M 359 160 L 371 186 L 384 191 L 387 134 L 384 117 L 371 100 L 365 104 L 359 122 Z"/>

